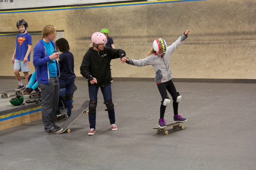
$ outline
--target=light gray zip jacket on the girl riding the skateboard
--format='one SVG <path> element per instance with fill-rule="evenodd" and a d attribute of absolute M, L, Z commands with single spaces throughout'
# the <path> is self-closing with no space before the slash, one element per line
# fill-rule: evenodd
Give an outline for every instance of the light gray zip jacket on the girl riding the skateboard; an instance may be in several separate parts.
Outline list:
<path fill-rule="evenodd" d="M 147 58 L 136 60 L 129 59 L 131 65 L 142 67 L 145 65 L 152 65 L 155 69 L 155 82 L 164 83 L 172 79 L 172 70 L 170 68 L 170 57 L 176 48 L 184 41 L 187 37 L 183 34 L 180 36 L 172 45 L 166 48 L 166 52 L 161 56 L 157 54 L 150 54 Z"/>

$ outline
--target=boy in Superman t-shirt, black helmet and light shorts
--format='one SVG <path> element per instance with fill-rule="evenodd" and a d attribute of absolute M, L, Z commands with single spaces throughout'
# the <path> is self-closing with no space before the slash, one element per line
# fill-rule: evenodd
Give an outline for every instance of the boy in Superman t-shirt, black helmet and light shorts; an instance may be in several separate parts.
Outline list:
<path fill-rule="evenodd" d="M 31 35 L 26 31 L 28 28 L 28 23 L 26 20 L 18 20 L 16 26 L 21 33 L 16 37 L 16 48 L 13 54 L 12 62 L 14 63 L 14 75 L 19 82 L 19 86 L 15 90 L 22 90 L 25 87 L 22 83 L 19 72 L 23 72 L 26 79 L 26 85 L 28 85 L 32 38 Z"/>

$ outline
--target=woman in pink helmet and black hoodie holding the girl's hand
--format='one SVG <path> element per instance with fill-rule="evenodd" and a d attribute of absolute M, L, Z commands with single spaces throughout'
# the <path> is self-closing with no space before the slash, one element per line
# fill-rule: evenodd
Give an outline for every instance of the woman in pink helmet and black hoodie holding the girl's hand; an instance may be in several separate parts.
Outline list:
<path fill-rule="evenodd" d="M 80 66 L 81 75 L 88 79 L 90 97 L 88 114 L 90 131 L 88 135 L 94 135 L 95 133 L 97 94 L 99 87 L 104 97 L 104 104 L 106 104 L 107 107 L 106 111 L 108 111 L 111 130 L 117 130 L 110 86 L 110 61 L 111 59 L 121 58 L 121 63 L 124 63 L 126 61 L 123 58 L 125 57 L 125 51 L 105 47 L 106 42 L 107 38 L 103 33 L 94 33 L 92 35 L 92 44 L 90 44 L 89 50 L 85 53 Z"/>

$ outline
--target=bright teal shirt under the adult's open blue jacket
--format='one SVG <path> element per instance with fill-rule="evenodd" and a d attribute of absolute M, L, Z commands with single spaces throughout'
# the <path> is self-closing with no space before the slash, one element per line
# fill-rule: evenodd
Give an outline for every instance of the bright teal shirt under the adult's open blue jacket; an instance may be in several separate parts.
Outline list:
<path fill-rule="evenodd" d="M 42 42 L 44 44 L 44 47 L 46 48 L 47 56 L 50 56 L 51 54 L 53 54 L 54 46 L 52 45 L 52 43 L 51 42 L 46 43 L 44 42 L 44 40 L 42 40 Z M 55 63 L 55 59 L 48 61 L 48 70 L 49 70 L 50 77 L 57 77 L 57 66 Z"/>

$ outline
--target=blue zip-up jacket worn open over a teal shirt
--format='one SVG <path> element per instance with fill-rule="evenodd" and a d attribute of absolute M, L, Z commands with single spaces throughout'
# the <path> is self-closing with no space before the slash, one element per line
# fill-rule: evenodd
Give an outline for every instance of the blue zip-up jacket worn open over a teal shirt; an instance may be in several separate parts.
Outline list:
<path fill-rule="evenodd" d="M 55 47 L 55 43 L 50 41 Z M 36 66 L 36 80 L 42 84 L 49 84 L 48 61 L 51 59 L 47 56 L 46 48 L 42 39 L 36 44 L 33 52 L 33 64 Z M 55 61 L 57 67 L 57 76 L 59 77 L 58 61 Z"/>

